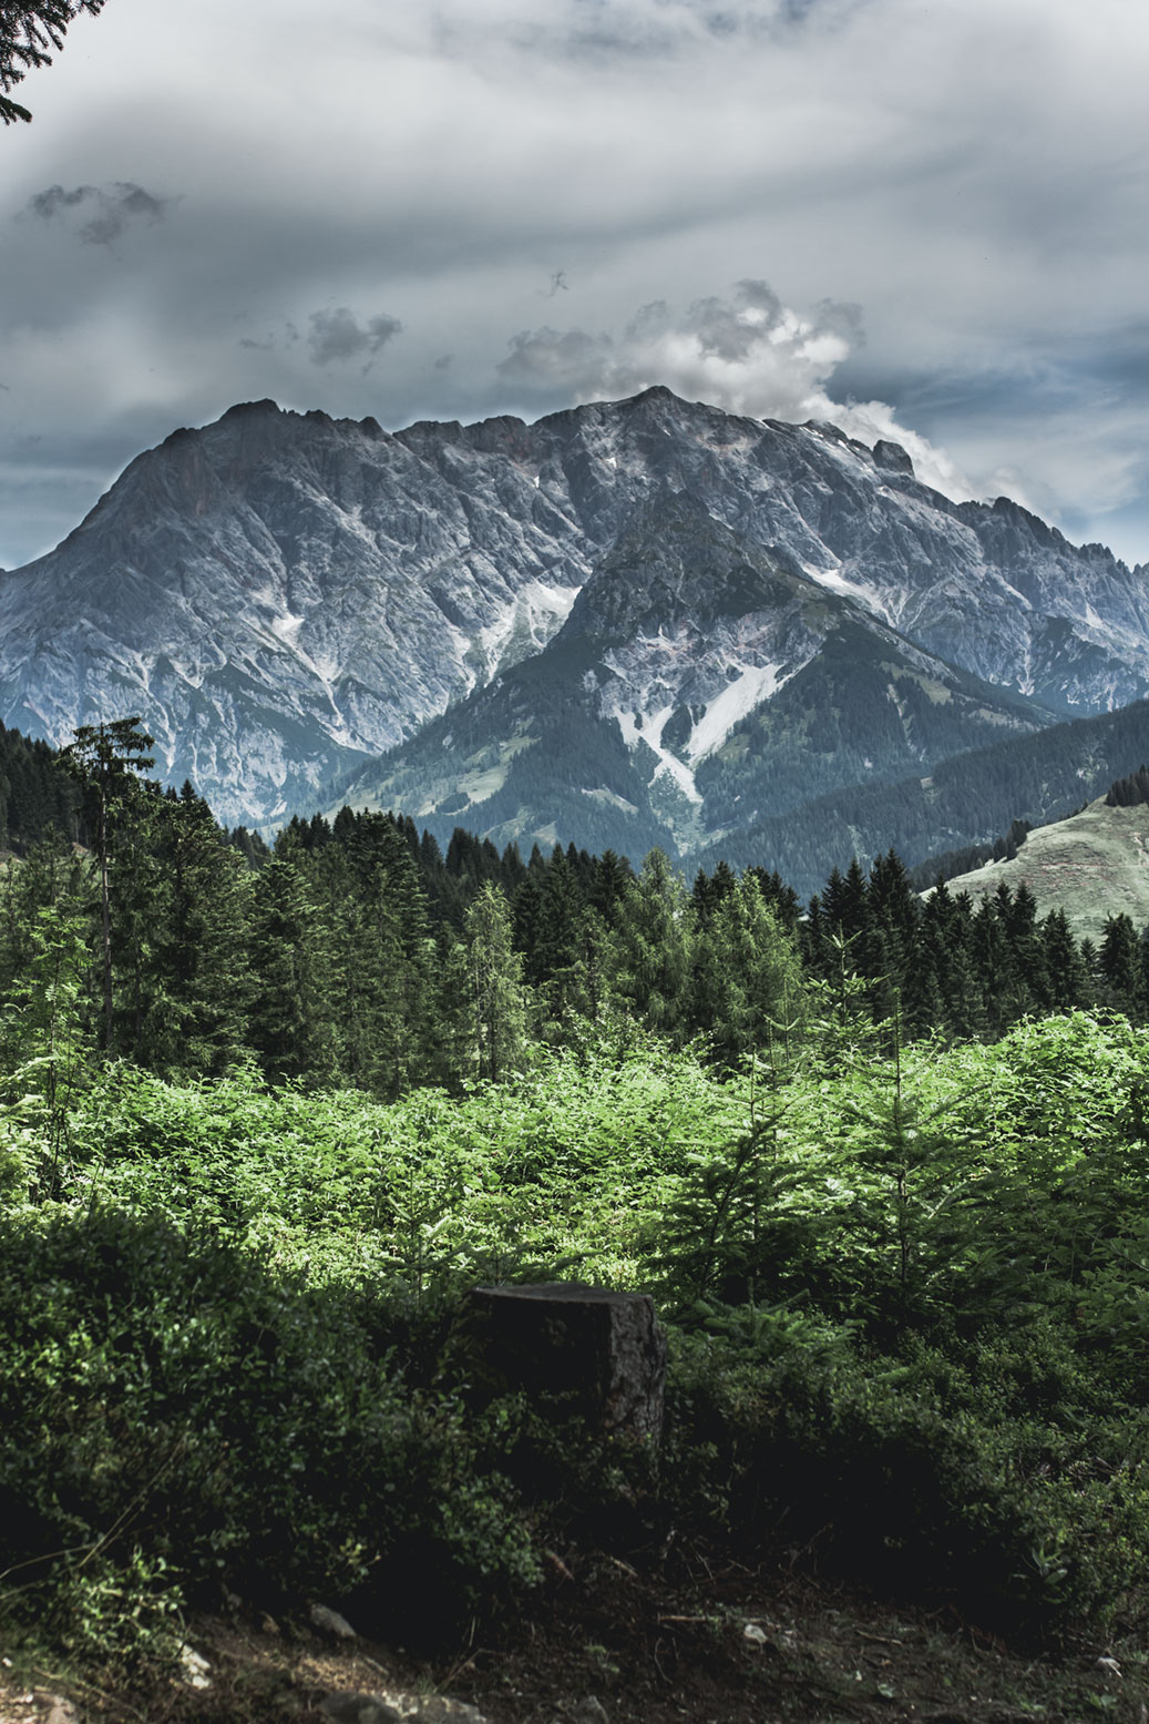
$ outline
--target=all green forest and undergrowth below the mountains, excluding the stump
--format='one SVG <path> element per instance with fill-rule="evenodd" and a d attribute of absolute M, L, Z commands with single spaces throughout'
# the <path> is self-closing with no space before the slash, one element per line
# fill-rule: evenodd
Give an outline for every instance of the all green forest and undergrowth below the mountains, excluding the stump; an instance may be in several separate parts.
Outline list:
<path fill-rule="evenodd" d="M 134 721 L 12 736 L 5 1646 L 126 1681 L 195 1612 L 315 1600 L 450 1641 L 672 1540 L 1144 1636 L 1127 917 L 1092 952 L 892 853 L 801 917 L 760 869 L 350 810 L 269 852 L 143 779 Z M 484 1383 L 469 1290 L 539 1279 L 655 1295 L 656 1453 Z"/>

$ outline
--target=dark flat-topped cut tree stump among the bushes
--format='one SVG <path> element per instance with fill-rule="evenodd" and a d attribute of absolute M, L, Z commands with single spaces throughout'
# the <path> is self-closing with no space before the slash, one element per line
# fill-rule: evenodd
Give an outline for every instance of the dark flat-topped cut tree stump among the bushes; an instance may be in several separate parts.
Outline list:
<path fill-rule="evenodd" d="M 570 1396 L 603 1434 L 658 1441 L 667 1338 L 646 1293 L 539 1281 L 475 1288 L 472 1310 L 493 1377 Z"/>

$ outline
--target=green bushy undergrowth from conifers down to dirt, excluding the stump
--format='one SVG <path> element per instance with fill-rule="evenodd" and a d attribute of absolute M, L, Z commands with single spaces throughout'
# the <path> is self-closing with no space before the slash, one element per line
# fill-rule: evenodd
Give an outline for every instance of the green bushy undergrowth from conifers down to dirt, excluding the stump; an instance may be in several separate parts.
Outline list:
<path fill-rule="evenodd" d="M 226 1593 L 410 1641 L 672 1526 L 1006 1633 L 1144 1624 L 1147 1053 L 1075 1014 L 724 1076 L 632 1029 L 393 1103 L 10 1072 L 5 1634 L 127 1669 Z M 481 1390 L 496 1277 L 656 1295 L 658 1460 Z"/>

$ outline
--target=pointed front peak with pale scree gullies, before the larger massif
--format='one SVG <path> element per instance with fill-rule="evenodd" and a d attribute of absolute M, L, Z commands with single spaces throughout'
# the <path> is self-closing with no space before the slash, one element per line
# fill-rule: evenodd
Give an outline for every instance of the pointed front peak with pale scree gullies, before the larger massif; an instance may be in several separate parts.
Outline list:
<path fill-rule="evenodd" d="M 500 843 L 693 852 L 820 790 L 1051 722 L 667 491 L 634 509 L 543 652 L 343 796 L 439 836 L 462 822 Z"/>

